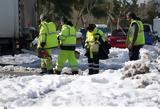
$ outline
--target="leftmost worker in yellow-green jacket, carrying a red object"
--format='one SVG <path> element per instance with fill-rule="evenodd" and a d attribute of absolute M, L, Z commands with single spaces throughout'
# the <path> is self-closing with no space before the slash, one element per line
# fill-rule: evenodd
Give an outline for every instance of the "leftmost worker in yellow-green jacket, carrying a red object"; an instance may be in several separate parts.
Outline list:
<path fill-rule="evenodd" d="M 38 36 L 38 55 L 41 58 L 41 74 L 53 74 L 52 50 L 58 46 L 56 26 L 50 16 L 42 14 Z"/>

